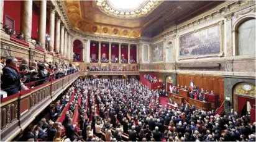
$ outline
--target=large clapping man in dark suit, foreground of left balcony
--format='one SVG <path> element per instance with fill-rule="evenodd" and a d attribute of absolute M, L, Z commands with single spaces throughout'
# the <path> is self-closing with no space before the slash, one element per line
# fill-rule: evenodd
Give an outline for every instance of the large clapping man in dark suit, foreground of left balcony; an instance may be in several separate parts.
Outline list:
<path fill-rule="evenodd" d="M 21 91 L 21 78 L 27 74 L 28 70 L 19 71 L 17 69 L 17 59 L 15 57 L 8 57 L 6 59 L 6 66 L 2 69 L 1 89 L 7 92 L 7 96 L 16 94 Z M 22 80 L 25 81 L 25 78 Z"/>

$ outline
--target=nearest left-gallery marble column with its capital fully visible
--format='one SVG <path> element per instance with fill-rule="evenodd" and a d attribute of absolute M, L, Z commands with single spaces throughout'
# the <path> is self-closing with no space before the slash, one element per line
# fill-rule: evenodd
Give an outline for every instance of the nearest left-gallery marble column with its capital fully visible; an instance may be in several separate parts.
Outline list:
<path fill-rule="evenodd" d="M 48 44 L 48 51 L 53 52 L 54 49 L 54 29 L 55 29 L 55 6 L 50 7 L 50 27 L 49 27 L 49 35 L 50 41 Z"/>

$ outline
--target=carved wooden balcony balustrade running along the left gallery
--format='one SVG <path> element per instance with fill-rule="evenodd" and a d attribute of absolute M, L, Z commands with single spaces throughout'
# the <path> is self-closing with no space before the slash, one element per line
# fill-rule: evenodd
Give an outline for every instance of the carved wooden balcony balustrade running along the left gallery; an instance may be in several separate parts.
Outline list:
<path fill-rule="evenodd" d="M 80 72 L 3 98 L 0 119 L 1 141 L 11 141 L 22 132 L 78 77 L 80 77 Z"/>

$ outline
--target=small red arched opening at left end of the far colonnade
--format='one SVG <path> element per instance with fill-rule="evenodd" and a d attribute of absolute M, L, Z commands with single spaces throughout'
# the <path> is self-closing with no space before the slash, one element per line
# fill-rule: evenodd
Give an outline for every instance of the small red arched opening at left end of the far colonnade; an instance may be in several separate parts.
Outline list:
<path fill-rule="evenodd" d="M 80 40 L 73 42 L 73 61 L 82 61 L 83 57 L 83 43 Z"/>

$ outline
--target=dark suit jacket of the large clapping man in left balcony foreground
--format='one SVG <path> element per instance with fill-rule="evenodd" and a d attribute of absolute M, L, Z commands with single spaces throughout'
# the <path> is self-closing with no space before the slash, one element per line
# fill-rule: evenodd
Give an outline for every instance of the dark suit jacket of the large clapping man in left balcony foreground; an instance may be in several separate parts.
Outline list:
<path fill-rule="evenodd" d="M 20 78 L 22 77 L 24 77 L 24 75 L 18 74 L 16 70 L 10 67 L 4 67 L 2 69 L 1 89 L 7 92 L 7 96 L 16 94 L 21 90 Z"/>

